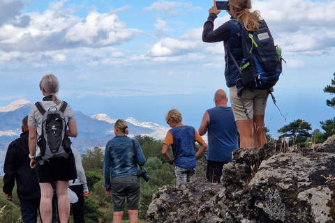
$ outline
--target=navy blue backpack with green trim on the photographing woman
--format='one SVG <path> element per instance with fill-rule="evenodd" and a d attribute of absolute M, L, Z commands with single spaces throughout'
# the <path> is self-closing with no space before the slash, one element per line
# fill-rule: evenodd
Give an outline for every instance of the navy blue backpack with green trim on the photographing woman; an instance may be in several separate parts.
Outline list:
<path fill-rule="evenodd" d="M 237 64 L 229 49 L 228 53 L 241 73 L 242 83 L 254 89 L 271 89 L 281 75 L 283 57 L 281 48 L 274 45 L 267 23 L 261 20 L 259 29 L 252 32 L 247 31 L 240 20 L 230 22 L 241 31 L 244 56 L 241 64 Z"/>

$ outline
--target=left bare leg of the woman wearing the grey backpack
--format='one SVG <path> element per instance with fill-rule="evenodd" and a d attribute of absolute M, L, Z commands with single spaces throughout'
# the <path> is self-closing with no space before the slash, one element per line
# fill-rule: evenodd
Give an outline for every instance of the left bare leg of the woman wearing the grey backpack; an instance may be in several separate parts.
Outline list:
<path fill-rule="evenodd" d="M 40 183 L 40 217 L 44 223 L 52 222 L 52 197 L 54 189 L 51 183 Z"/>

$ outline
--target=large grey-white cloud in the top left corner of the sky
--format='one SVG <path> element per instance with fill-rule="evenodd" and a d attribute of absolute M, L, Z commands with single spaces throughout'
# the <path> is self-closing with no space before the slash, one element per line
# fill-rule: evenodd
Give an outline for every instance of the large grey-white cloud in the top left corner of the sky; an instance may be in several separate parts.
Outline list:
<path fill-rule="evenodd" d="M 113 13 L 93 11 L 83 20 L 71 15 L 72 10 L 61 10 L 63 2 L 54 10 L 42 14 L 27 13 L 29 26 L 6 24 L 0 27 L 0 49 L 4 52 L 38 52 L 74 47 L 103 47 L 119 45 L 133 39 L 137 29 L 127 29 Z M 56 9 L 55 9 L 56 8 Z"/>

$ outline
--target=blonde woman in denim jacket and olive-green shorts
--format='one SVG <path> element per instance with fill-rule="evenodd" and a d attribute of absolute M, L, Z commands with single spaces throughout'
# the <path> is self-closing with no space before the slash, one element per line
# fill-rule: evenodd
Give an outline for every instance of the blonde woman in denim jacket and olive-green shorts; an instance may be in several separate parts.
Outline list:
<path fill-rule="evenodd" d="M 112 194 L 113 223 L 121 223 L 126 199 L 129 223 L 138 222 L 141 180 L 137 176 L 137 163 L 143 166 L 146 160 L 140 144 L 129 138 L 128 133 L 126 121 L 118 119 L 114 123 L 115 137 L 107 142 L 103 157 L 104 187 L 107 194 Z"/>

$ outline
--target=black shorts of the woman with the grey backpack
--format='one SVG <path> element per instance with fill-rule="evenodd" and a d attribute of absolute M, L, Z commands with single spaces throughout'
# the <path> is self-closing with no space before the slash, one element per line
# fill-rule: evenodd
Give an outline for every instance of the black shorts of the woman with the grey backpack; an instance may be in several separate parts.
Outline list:
<path fill-rule="evenodd" d="M 73 154 L 70 153 L 67 158 L 56 157 L 50 158 L 47 161 L 38 159 L 36 157 L 36 173 L 38 183 L 52 183 L 54 181 L 73 180 L 76 169 L 73 161 Z"/>

